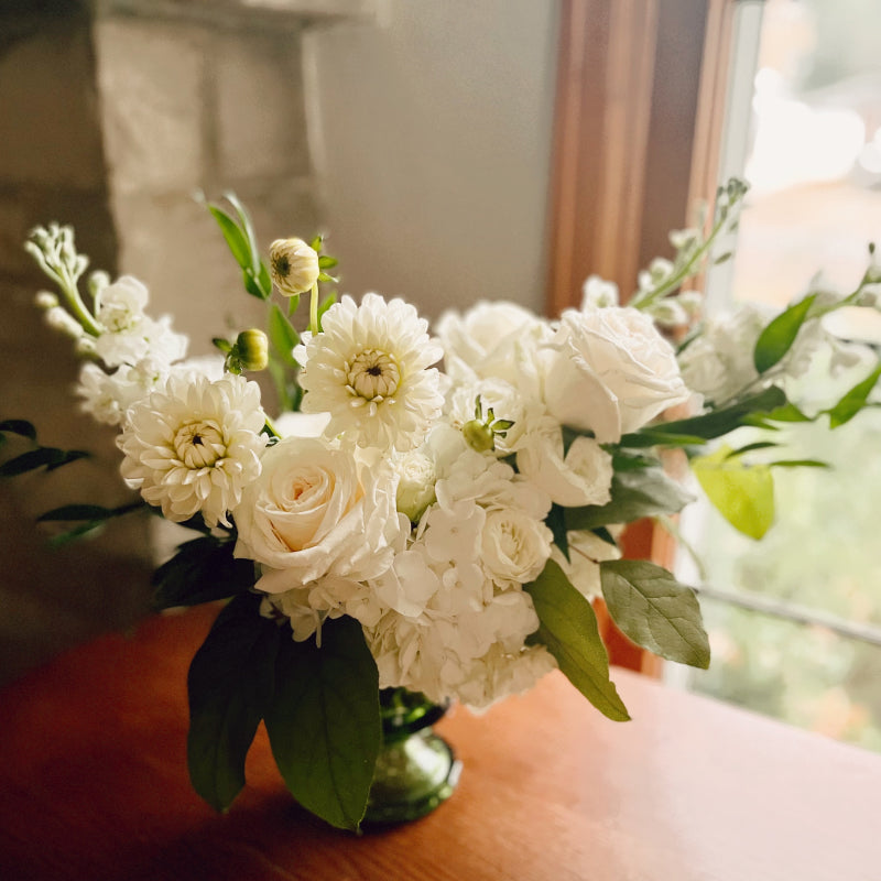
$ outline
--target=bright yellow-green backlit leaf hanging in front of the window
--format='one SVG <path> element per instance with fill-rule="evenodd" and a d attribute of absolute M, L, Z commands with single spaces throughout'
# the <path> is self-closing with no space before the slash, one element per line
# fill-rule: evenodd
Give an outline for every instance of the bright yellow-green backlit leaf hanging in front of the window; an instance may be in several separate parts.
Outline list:
<path fill-rule="evenodd" d="M 774 478 L 766 465 L 747 465 L 730 458 L 721 446 L 692 459 L 692 470 L 707 498 L 738 531 L 761 539 L 774 522 Z"/>

